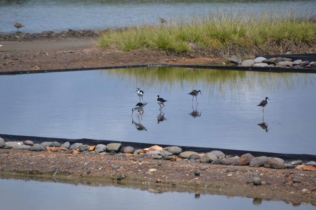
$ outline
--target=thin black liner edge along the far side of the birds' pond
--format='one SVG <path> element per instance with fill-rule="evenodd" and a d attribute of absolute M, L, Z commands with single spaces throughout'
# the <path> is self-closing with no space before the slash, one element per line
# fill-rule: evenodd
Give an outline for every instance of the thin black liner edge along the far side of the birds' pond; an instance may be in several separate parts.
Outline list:
<path fill-rule="evenodd" d="M 122 65 L 122 66 L 104 66 L 91 68 L 73 68 L 73 69 L 48 69 L 48 70 L 28 70 L 28 71 L 3 71 L 0 75 L 20 75 L 34 73 L 50 73 L 50 72 L 67 72 L 67 71 L 88 71 L 88 70 L 103 70 L 103 69 L 123 69 L 123 68 L 148 68 L 148 67 L 180 67 L 192 69 L 214 69 L 214 70 L 236 70 L 236 71 L 261 71 L 274 73 L 316 73 L 313 68 L 285 68 L 285 67 L 248 67 L 238 65 L 174 65 L 174 64 L 146 64 L 146 65 Z"/>

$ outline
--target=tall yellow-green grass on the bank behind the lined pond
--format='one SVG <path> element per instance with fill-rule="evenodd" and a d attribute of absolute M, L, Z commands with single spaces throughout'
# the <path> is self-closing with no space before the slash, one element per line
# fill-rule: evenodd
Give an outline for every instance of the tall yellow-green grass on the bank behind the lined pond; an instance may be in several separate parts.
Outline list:
<path fill-rule="evenodd" d="M 282 16 L 264 14 L 207 14 L 203 17 L 168 19 L 167 23 L 143 23 L 101 34 L 100 47 L 118 46 L 124 51 L 163 50 L 166 53 L 225 58 L 232 54 L 314 52 L 316 21 L 288 11 Z"/>

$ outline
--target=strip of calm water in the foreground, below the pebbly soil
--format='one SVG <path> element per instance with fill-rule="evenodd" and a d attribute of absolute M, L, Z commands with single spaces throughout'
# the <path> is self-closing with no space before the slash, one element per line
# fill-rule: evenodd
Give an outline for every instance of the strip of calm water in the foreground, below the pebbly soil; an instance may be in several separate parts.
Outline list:
<path fill-rule="evenodd" d="M 228 197 L 209 194 L 181 193 L 117 188 L 113 186 L 89 186 L 62 183 L 38 182 L 33 180 L 0 179 L 1 207 L 6 210 L 41 209 L 129 209 L 145 207 L 150 209 L 313 209 L 310 204 L 292 205 L 282 201 L 261 201 L 251 198 Z M 158 193 L 157 193 L 158 192 Z M 157 205 L 158 204 L 158 205 Z M 44 206 L 44 207 L 43 207 Z"/>

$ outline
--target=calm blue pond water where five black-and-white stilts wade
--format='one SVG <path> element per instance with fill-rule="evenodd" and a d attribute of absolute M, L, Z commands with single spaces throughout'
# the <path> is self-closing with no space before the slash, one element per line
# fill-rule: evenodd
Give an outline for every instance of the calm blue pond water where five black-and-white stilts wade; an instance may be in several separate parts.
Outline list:
<path fill-rule="evenodd" d="M 139 117 L 131 111 L 137 88 L 148 103 Z M 199 104 L 193 89 L 201 90 Z M 2 75 L 0 133 L 315 155 L 315 89 L 316 74 L 306 73 L 150 67 Z M 168 100 L 162 112 L 157 95 Z M 263 115 L 257 105 L 265 97 Z"/>

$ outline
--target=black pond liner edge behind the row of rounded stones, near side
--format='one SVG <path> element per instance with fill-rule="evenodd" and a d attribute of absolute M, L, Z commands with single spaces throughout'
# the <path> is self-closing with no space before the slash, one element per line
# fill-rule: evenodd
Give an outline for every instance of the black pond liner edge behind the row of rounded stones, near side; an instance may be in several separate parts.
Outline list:
<path fill-rule="evenodd" d="M 43 142 L 53 142 L 57 141 L 60 144 L 65 142 L 70 142 L 70 145 L 75 143 L 82 143 L 83 145 L 98 145 L 103 144 L 107 145 L 110 143 L 121 143 L 123 146 L 131 146 L 135 150 L 149 148 L 155 144 L 151 143 L 139 143 L 139 142 L 126 142 L 126 141 L 113 141 L 113 140 L 100 140 L 100 139 L 63 139 L 63 138 L 51 138 L 51 137 L 36 137 L 36 136 L 20 136 L 20 135 L 9 135 L 9 134 L 0 134 L 0 137 L 5 140 L 5 142 L 9 141 L 21 141 L 24 142 L 26 140 L 31 140 L 34 144 L 41 144 Z M 194 151 L 197 153 L 207 153 L 213 150 L 222 151 L 226 155 L 234 156 L 242 156 L 244 154 L 250 153 L 255 157 L 259 156 L 267 156 L 267 157 L 278 157 L 282 158 L 285 162 L 291 162 L 295 160 L 301 160 L 304 163 L 315 161 L 316 155 L 308 155 L 308 154 L 283 154 L 283 153 L 273 153 L 273 152 L 261 152 L 261 151 L 248 151 L 248 150 L 231 150 L 231 149 L 219 149 L 219 148 L 207 148 L 207 147 L 194 147 L 194 146 L 180 146 L 180 145 L 162 145 L 162 148 L 168 146 L 178 146 L 182 149 L 182 151 Z"/>

